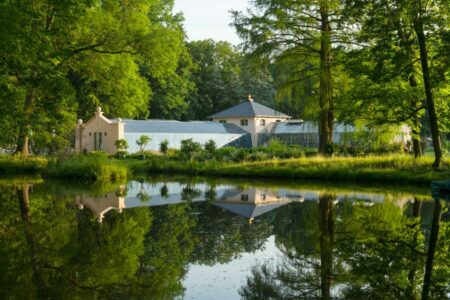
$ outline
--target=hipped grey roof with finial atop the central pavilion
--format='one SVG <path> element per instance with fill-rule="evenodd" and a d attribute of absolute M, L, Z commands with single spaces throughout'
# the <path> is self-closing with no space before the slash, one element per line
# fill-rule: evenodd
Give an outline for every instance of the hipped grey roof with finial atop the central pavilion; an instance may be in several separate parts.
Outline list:
<path fill-rule="evenodd" d="M 276 111 L 270 107 L 259 104 L 255 101 L 244 101 L 230 107 L 228 109 L 222 110 L 208 118 L 225 118 L 225 117 L 280 117 L 280 118 L 290 118 L 290 116 L 285 115 L 279 111 Z"/>

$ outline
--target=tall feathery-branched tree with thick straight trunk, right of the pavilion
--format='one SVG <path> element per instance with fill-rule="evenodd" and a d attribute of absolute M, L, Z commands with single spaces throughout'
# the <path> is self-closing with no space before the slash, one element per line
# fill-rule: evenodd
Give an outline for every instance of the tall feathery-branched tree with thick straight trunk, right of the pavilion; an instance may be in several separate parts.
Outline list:
<path fill-rule="evenodd" d="M 244 50 L 269 61 L 290 56 L 298 62 L 318 61 L 319 151 L 332 143 L 334 121 L 333 45 L 342 45 L 340 3 L 334 0 L 256 0 L 247 14 L 233 12 Z"/>

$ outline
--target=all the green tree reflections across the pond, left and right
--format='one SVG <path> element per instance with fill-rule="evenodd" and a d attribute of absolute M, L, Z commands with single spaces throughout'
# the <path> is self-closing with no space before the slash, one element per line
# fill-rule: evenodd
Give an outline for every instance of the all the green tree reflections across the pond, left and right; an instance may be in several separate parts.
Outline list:
<path fill-rule="evenodd" d="M 144 204 L 168 202 L 169 186 L 156 188 Z M 2 298 L 176 298 L 189 264 L 228 263 L 260 250 L 270 236 L 282 257 L 253 269 L 243 298 L 445 299 L 450 293 L 450 228 L 439 222 L 446 210 L 439 200 L 425 214 L 432 203 L 419 199 L 403 209 L 393 201 L 369 206 L 321 193 L 318 201 L 283 204 L 249 225 L 216 206 L 217 185 L 182 186 L 176 205 L 111 209 L 102 223 L 76 205 L 86 189 L 0 186 Z M 86 205 L 127 194 L 124 186 L 91 189 Z M 207 201 L 197 202 L 202 195 Z"/>

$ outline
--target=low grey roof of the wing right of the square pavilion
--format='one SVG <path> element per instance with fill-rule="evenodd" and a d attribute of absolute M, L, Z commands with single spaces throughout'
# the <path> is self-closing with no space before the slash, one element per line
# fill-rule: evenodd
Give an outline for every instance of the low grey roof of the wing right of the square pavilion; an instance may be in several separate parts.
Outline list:
<path fill-rule="evenodd" d="M 353 132 L 355 128 L 351 125 L 342 123 L 334 123 L 333 132 Z M 288 134 L 288 133 L 319 133 L 317 122 L 291 120 L 288 122 L 275 123 L 270 131 L 271 134 Z"/>

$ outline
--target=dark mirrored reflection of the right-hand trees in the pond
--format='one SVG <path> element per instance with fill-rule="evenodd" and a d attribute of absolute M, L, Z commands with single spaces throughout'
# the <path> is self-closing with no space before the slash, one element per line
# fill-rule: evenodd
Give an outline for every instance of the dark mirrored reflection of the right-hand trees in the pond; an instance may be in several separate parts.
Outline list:
<path fill-rule="evenodd" d="M 280 209 L 289 220 L 276 231 L 283 258 L 253 268 L 240 290 L 244 299 L 447 299 L 450 229 L 441 223 L 437 238 L 439 200 L 431 232 L 418 199 L 412 217 L 392 202 L 333 203 L 322 194 L 318 204 Z"/>

